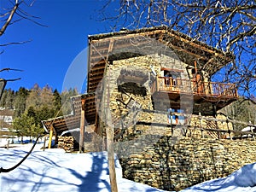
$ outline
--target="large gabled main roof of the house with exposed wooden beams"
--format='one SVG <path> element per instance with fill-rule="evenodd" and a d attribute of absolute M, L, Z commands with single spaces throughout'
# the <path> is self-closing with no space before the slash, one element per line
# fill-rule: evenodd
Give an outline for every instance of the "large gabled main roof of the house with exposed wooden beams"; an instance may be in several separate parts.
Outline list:
<path fill-rule="evenodd" d="M 195 61 L 199 69 L 209 74 L 216 73 L 231 61 L 232 55 L 225 55 L 219 49 L 214 49 L 207 44 L 201 43 L 189 36 L 176 32 L 167 26 L 155 26 L 150 28 L 137 29 L 134 31 L 110 32 L 89 36 L 89 58 L 88 62 L 88 92 L 96 90 L 101 82 L 106 63 L 119 59 L 130 58 L 140 54 L 150 55 L 155 53 L 152 49 L 155 45 L 150 39 L 158 42 L 157 46 L 168 46 L 178 58 L 194 66 Z M 159 44 L 160 43 L 160 44 Z M 147 46 L 150 46 L 149 48 Z M 145 53 L 145 49 L 147 52 Z M 164 53 L 164 54 L 173 54 Z"/>

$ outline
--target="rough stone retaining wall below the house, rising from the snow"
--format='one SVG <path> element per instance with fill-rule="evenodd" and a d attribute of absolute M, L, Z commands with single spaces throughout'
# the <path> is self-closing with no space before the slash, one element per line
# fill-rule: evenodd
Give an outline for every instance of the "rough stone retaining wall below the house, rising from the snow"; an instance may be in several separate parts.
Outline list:
<path fill-rule="evenodd" d="M 256 141 L 151 135 L 120 146 L 116 150 L 124 177 L 166 190 L 225 177 L 256 162 Z"/>

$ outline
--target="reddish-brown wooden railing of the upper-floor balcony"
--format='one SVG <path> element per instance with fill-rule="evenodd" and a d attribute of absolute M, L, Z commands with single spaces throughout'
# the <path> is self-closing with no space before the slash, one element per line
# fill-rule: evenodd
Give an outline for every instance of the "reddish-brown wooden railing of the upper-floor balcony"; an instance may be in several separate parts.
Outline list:
<path fill-rule="evenodd" d="M 152 84 L 151 93 L 154 94 L 155 92 L 161 91 L 168 93 L 188 93 L 195 96 L 238 97 L 236 84 L 157 77 Z"/>

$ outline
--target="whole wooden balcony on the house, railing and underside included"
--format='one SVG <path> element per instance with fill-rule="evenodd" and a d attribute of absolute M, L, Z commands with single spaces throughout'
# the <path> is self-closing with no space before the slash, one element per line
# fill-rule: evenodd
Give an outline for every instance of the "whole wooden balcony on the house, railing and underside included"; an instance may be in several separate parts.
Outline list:
<path fill-rule="evenodd" d="M 154 102 L 165 99 L 166 96 L 172 103 L 172 108 L 180 108 L 181 96 L 187 96 L 195 104 L 216 104 L 216 109 L 224 108 L 238 98 L 236 84 L 218 82 L 196 82 L 191 79 L 172 79 L 157 77 L 151 85 Z M 179 103 L 179 104 L 178 104 Z M 175 105 L 176 104 L 176 105 Z M 174 106 L 174 107 L 173 107 Z"/>

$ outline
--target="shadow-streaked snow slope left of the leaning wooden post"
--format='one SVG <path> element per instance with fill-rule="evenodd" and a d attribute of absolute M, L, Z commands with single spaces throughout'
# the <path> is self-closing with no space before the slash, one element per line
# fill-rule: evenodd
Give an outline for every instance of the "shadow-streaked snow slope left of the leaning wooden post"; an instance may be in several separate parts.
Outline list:
<path fill-rule="evenodd" d="M 44 152 L 47 153 L 47 152 Z M 20 160 L 26 151 L 14 150 L 8 154 L 9 162 Z M 49 154 L 50 155 L 50 154 Z M 67 154 L 71 158 L 76 154 Z M 54 155 L 54 159 L 48 156 L 48 154 L 42 154 L 42 152 L 33 152 L 26 161 L 21 164 L 13 172 L 1 176 L 1 185 L 3 184 L 3 191 L 16 191 L 19 188 L 20 191 L 42 191 L 44 189 L 73 189 L 75 191 L 84 192 L 98 192 L 104 190 L 111 191 L 109 184 L 109 171 L 108 171 L 108 155 L 105 153 L 91 153 L 91 154 L 79 154 L 79 155 L 91 155 L 90 158 L 81 157 L 76 162 L 70 160 L 70 166 L 62 166 L 61 162 L 67 160 L 56 159 L 57 155 Z M 3 156 L 0 160 L 4 160 Z M 90 160 L 86 162 L 86 160 Z M 7 165 L 9 165 L 9 162 Z M 117 161 L 116 166 L 118 166 Z M 66 162 L 67 163 L 67 162 Z M 87 171 L 73 168 L 73 163 L 76 167 L 79 163 L 88 164 Z M 10 163 L 11 164 L 11 163 Z M 32 165 L 33 164 L 33 165 Z M 31 166 L 30 166 L 31 165 Z M 65 162 L 64 162 L 65 165 Z M 10 165 L 11 166 L 11 165 Z M 84 169 L 84 168 L 83 168 Z M 70 176 L 69 176 L 70 175 Z"/>

